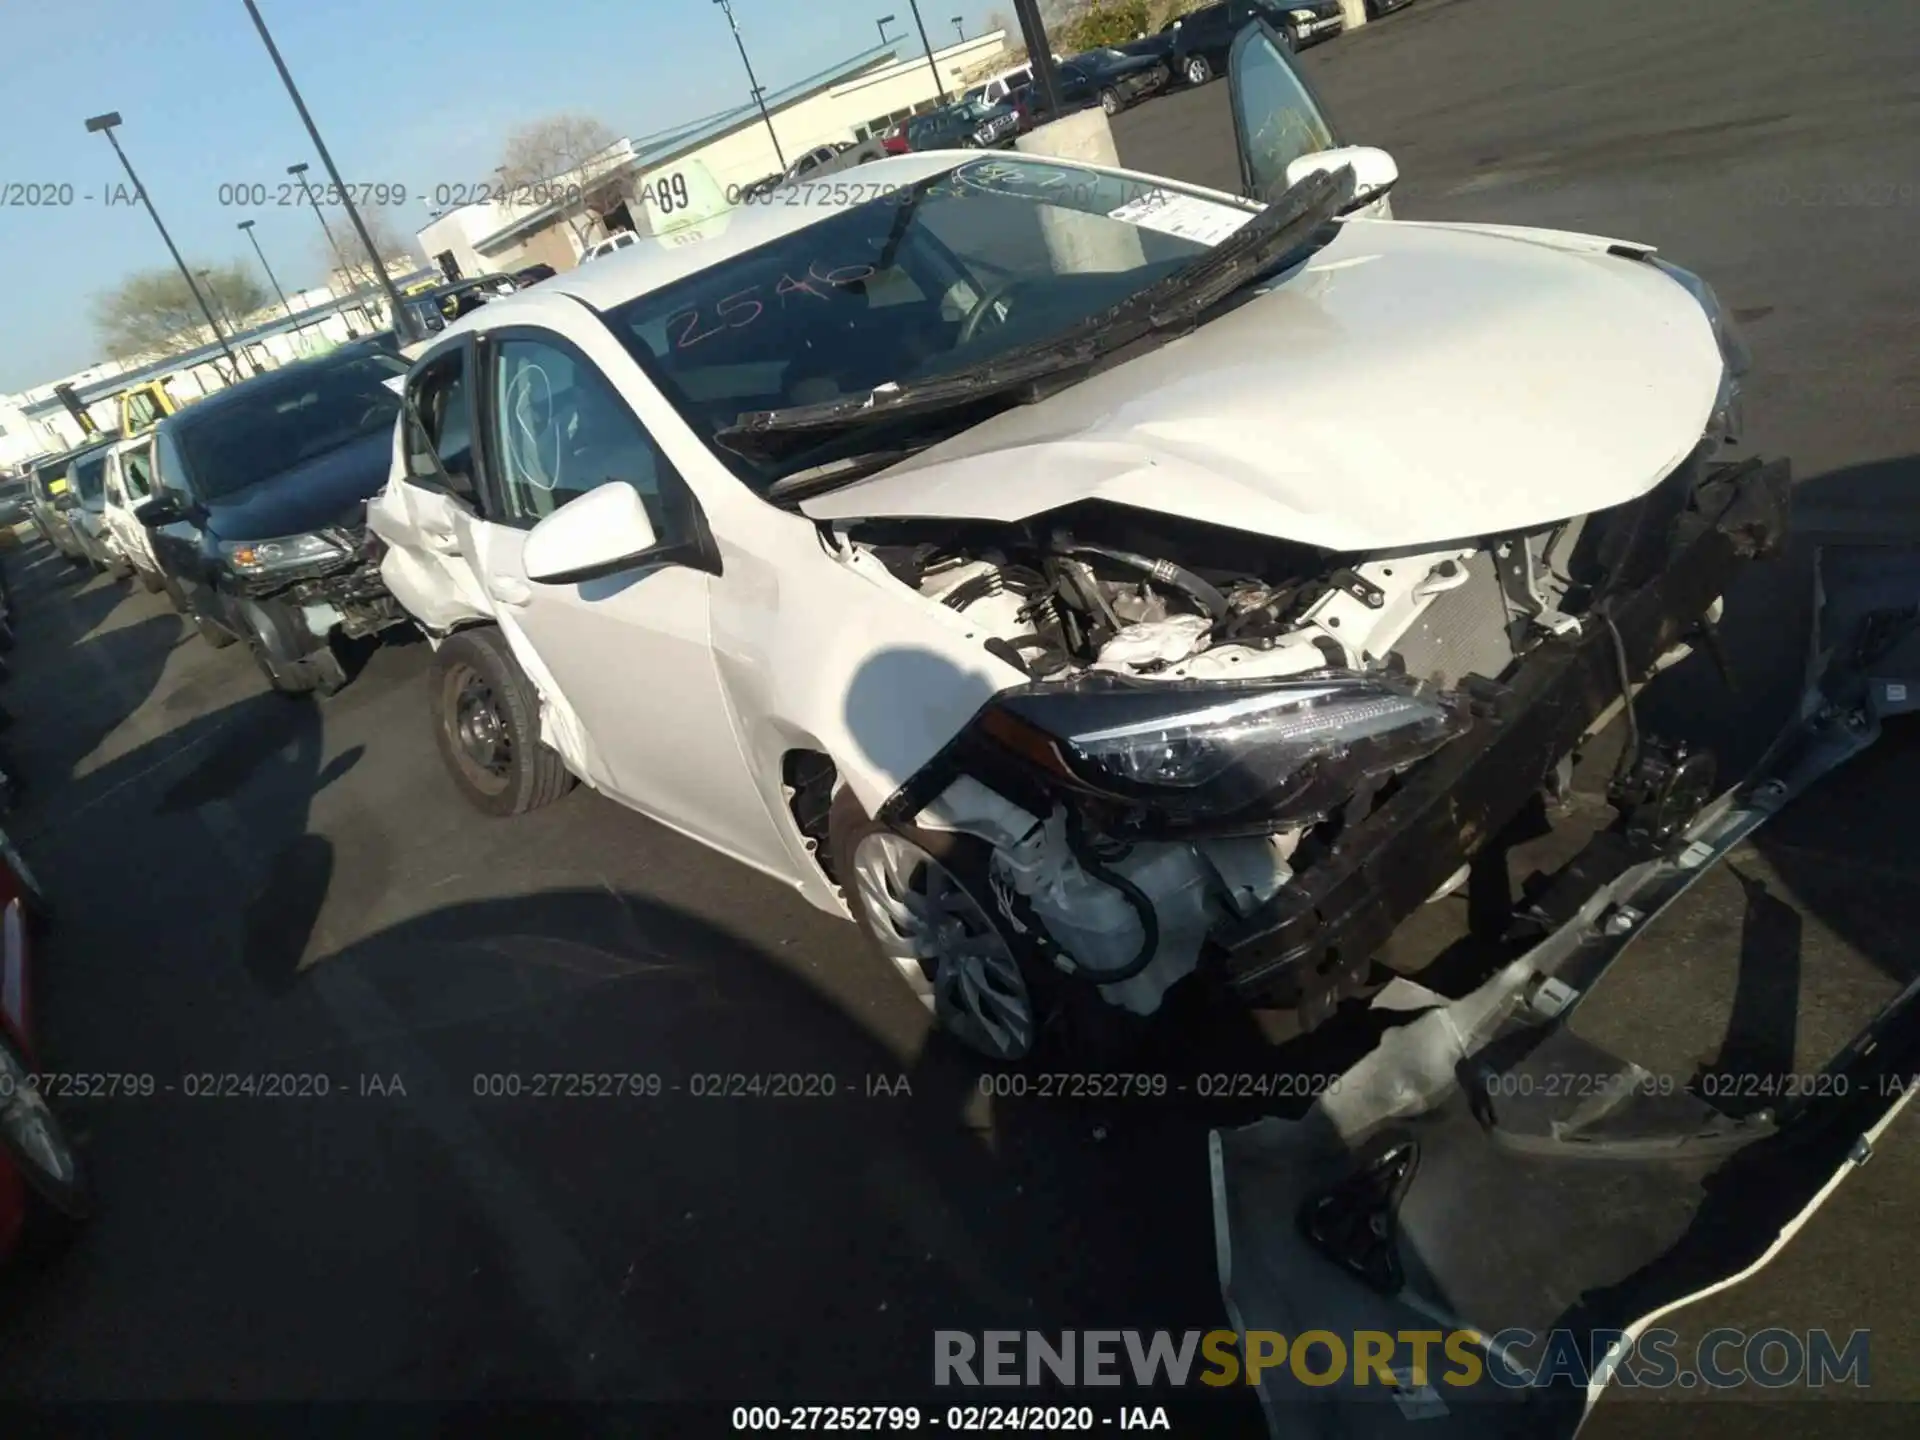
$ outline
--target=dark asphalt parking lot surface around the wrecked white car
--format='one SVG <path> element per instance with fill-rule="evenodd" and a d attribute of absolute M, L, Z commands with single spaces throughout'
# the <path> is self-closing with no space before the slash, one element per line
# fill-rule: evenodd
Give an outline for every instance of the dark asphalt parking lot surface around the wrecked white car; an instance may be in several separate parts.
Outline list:
<path fill-rule="evenodd" d="M 1728 772 L 1797 687 L 1812 545 L 1920 538 L 1920 27 L 1903 0 L 1807 17 L 1419 0 L 1302 58 L 1346 138 L 1396 156 L 1402 219 L 1647 240 L 1745 324 L 1749 442 L 1793 457 L 1801 538 L 1728 597 L 1740 689 L 1690 662 L 1651 722 Z M 1231 186 L 1225 104 L 1123 115 L 1123 161 Z M 858 1402 L 924 1392 L 935 1329 L 1225 1323 L 1208 1127 L 1256 1108 L 987 1096 L 856 933 L 780 885 L 586 789 L 468 810 L 424 643 L 290 703 L 157 597 L 6 561 L 31 785 L 8 829 L 58 912 L 46 1062 L 154 1094 L 69 1106 L 100 1215 L 0 1281 L 0 1398 Z M 1920 747 L 1889 730 L 1582 1027 L 1682 1075 L 1818 1066 L 1920 962 L 1916 803 Z M 1267 1044 L 1206 1010 L 1140 1064 L 1271 1068 Z M 1866 1398 L 1920 1398 L 1910 1131 L 1676 1323 L 1868 1327 Z M 1642 1402 L 1590 1434 L 1701 1425 Z M 1868 1423 L 1809 1402 L 1740 1425 L 1786 1409 Z M 1215 1398 L 1206 1428 L 1256 1423 Z"/>

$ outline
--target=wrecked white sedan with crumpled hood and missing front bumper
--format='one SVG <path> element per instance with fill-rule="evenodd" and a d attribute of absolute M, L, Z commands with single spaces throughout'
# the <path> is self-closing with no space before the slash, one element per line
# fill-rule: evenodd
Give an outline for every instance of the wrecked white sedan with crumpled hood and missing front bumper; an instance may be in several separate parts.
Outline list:
<path fill-rule="evenodd" d="M 1200 970 L 1359 993 L 1711 630 L 1786 465 L 1718 457 L 1695 276 L 1386 219 L 1271 31 L 1229 79 L 1256 200 L 902 156 L 438 336 L 371 524 L 465 793 L 578 778 L 795 885 L 996 1060 Z M 1657 843 L 1707 787 L 1634 751 Z"/>

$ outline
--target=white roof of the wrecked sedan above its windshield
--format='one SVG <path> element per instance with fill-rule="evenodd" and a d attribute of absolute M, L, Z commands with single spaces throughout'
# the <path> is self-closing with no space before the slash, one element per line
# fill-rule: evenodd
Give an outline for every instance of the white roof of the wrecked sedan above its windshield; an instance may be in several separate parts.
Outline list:
<path fill-rule="evenodd" d="M 749 200 L 743 205 L 722 211 L 710 221 L 701 221 L 695 227 L 701 236 L 699 240 L 676 244 L 674 236 L 645 236 L 637 244 L 597 255 L 591 265 L 555 275 L 551 280 L 541 282 L 540 288 L 541 292 L 559 290 L 576 296 L 593 309 L 612 309 L 636 296 L 660 290 L 674 280 L 684 280 L 689 275 L 722 265 L 735 255 L 816 225 L 849 205 L 877 200 L 889 186 L 906 188 L 979 157 L 977 150 L 929 150 L 912 156 L 872 159 L 856 169 L 837 171 L 829 179 L 801 180 L 789 188 L 776 190 L 768 198 Z M 839 186 L 845 186 L 845 190 Z M 501 303 L 511 305 L 513 296 L 495 300 L 486 309 L 497 317 Z M 490 323 L 497 323 L 497 319 Z"/>

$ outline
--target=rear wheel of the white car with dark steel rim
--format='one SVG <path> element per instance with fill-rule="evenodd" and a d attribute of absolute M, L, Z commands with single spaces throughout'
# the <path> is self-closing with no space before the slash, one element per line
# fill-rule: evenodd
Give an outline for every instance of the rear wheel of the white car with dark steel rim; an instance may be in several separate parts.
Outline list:
<path fill-rule="evenodd" d="M 526 814 L 574 787 L 540 739 L 540 693 L 492 626 L 461 630 L 434 651 L 434 743 L 461 795 L 492 816 Z"/>

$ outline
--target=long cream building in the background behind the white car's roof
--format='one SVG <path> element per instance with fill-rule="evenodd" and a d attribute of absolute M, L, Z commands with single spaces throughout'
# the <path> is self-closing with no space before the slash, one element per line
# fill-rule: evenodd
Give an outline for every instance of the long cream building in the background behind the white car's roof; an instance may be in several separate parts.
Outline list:
<path fill-rule="evenodd" d="M 572 177 L 555 177 L 563 190 L 578 184 L 584 205 L 463 205 L 419 230 L 417 248 L 436 265 L 449 259 L 461 275 L 526 265 L 572 269 L 586 246 L 609 230 L 647 228 L 641 205 L 628 202 L 687 161 L 699 161 L 722 192 L 735 194 L 814 146 L 868 140 L 908 115 L 939 108 L 943 88 L 948 100 L 958 100 L 972 77 L 1006 54 L 1006 31 L 935 50 L 931 63 L 916 44 L 889 40 L 768 94 L 772 134 L 749 100 L 674 131 L 620 140 Z"/>

